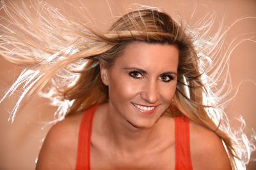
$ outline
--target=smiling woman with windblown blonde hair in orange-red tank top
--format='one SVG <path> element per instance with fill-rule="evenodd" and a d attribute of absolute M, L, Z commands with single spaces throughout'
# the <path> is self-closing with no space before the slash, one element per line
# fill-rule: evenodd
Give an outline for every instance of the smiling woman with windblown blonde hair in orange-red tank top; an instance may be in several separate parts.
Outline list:
<path fill-rule="evenodd" d="M 76 31 L 69 51 L 39 48 L 52 59 L 2 53 L 37 64 L 30 94 L 52 81 L 48 94 L 70 104 L 47 134 L 36 169 L 236 169 L 243 162 L 243 145 L 207 101 L 202 56 L 186 27 L 147 8 L 124 15 L 106 34 Z M 60 74 L 78 76 L 65 86 Z"/>

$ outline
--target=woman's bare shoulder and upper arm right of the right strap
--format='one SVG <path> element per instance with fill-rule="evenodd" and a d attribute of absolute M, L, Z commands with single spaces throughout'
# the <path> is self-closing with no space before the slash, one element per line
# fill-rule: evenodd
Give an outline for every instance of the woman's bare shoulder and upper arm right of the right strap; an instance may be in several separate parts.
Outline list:
<path fill-rule="evenodd" d="M 190 121 L 190 134 L 194 169 L 231 169 L 227 152 L 215 132 Z"/>

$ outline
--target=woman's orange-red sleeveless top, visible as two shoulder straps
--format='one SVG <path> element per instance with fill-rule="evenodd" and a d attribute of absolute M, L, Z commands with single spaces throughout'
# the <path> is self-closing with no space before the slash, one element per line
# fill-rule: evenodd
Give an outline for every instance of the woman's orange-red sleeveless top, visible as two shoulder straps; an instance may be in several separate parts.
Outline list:
<path fill-rule="evenodd" d="M 84 113 L 79 129 L 76 170 L 90 170 L 90 144 L 95 110 L 92 106 Z M 189 119 L 184 115 L 175 117 L 175 170 L 192 170 L 189 143 Z"/>

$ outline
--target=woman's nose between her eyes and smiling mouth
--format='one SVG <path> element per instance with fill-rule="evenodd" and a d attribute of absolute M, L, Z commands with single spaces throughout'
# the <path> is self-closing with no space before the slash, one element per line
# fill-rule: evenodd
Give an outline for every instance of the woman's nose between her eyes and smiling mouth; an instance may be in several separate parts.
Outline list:
<path fill-rule="evenodd" d="M 157 82 L 145 82 L 140 96 L 141 99 L 149 104 L 157 103 L 157 101 L 159 100 L 159 89 L 157 87 Z"/>

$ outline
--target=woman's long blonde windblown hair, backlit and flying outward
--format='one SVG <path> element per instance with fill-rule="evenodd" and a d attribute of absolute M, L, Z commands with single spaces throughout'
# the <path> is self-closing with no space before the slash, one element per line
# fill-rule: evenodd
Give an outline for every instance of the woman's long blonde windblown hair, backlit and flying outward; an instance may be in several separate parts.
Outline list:
<path fill-rule="evenodd" d="M 220 136 L 233 169 L 244 168 L 250 160 L 253 146 L 244 132 L 239 135 L 230 130 L 220 103 L 223 99 L 218 98 L 225 85 L 214 87 L 223 67 L 212 65 L 211 59 L 217 59 L 221 66 L 226 60 L 217 57 L 225 32 L 207 37 L 213 20 L 199 20 L 191 29 L 158 8 L 143 6 L 120 17 L 102 33 L 81 22 L 66 20 L 44 3 L 35 7 L 36 15 L 30 15 L 24 5 L 21 10 L 14 4 L 1 3 L 9 18 L 1 17 L 4 24 L 0 30 L 0 55 L 27 67 L 3 96 L 4 99 L 22 87 L 12 121 L 21 101 L 36 92 L 58 106 L 58 120 L 93 104 L 106 103 L 108 87 L 100 78 L 99 62 L 113 66 L 134 41 L 174 45 L 179 49 L 178 83 L 175 102 L 168 113 L 172 117 L 184 114 Z"/>

